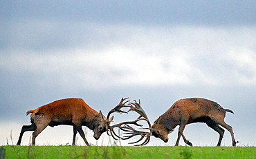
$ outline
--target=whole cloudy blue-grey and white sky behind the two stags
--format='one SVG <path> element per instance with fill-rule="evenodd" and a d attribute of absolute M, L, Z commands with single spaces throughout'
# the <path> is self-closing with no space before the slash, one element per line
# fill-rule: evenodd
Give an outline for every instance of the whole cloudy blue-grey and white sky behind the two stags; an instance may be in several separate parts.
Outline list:
<path fill-rule="evenodd" d="M 140 98 L 152 123 L 181 98 L 214 100 L 235 112 L 226 123 L 238 145 L 255 145 L 255 10 L 255 1 L 1 1 L 0 145 L 17 142 L 30 109 L 79 97 L 107 115 L 127 96 Z M 64 145 L 72 134 L 46 128 L 37 144 Z M 205 124 L 184 134 L 201 146 L 219 138 Z M 222 145 L 231 145 L 227 130 Z"/>

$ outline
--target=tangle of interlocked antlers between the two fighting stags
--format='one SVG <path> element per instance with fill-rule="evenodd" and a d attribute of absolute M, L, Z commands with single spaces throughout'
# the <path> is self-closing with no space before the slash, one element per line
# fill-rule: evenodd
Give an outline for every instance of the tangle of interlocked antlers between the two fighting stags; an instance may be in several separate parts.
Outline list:
<path fill-rule="evenodd" d="M 127 99 L 127 98 L 125 98 L 125 99 Z M 113 112 L 128 113 L 130 111 L 134 111 L 134 112 L 137 112 L 138 114 L 140 114 L 140 116 L 136 120 L 134 120 L 134 121 L 122 122 L 122 123 L 119 123 L 119 124 L 116 124 L 116 125 L 113 125 L 113 126 L 109 125 L 108 131 L 110 131 L 111 136 L 114 139 L 116 139 L 116 140 L 117 140 L 117 138 L 121 138 L 122 140 L 127 140 L 129 138 L 134 137 L 134 136 L 139 136 L 140 135 L 141 136 L 140 139 L 138 139 L 136 142 L 129 142 L 129 144 L 138 143 L 141 140 L 143 140 L 143 138 L 146 138 L 146 140 L 142 144 L 136 145 L 136 146 L 146 145 L 149 142 L 150 136 L 152 136 L 152 131 L 153 131 L 152 126 L 151 126 L 151 124 L 149 122 L 149 119 L 147 118 L 147 114 L 145 114 L 143 108 L 140 106 L 140 100 L 139 100 L 139 103 L 137 103 L 136 100 L 134 100 L 134 103 L 129 103 L 128 104 L 129 106 L 128 106 L 128 105 L 125 105 L 125 103 L 129 102 L 129 100 L 122 104 L 122 102 L 125 99 L 122 99 L 118 106 L 116 106 L 115 108 L 111 109 L 111 111 L 108 114 L 107 119 L 109 120 L 109 116 Z M 130 109 L 129 109 L 128 112 L 123 112 L 121 110 L 122 107 L 130 107 Z M 113 120 L 113 117 L 112 117 L 112 120 Z M 138 131 L 138 130 L 136 130 L 133 127 L 130 126 L 130 125 L 136 125 L 136 126 L 139 126 L 139 127 L 143 127 L 143 125 L 140 125 L 140 124 L 137 123 L 140 120 L 146 120 L 148 125 L 149 125 L 149 128 L 140 128 L 140 129 L 149 129 L 149 132 Z M 110 124 L 110 122 L 109 122 L 109 124 Z M 127 136 L 124 136 L 124 137 L 118 136 L 115 133 L 115 131 L 113 130 L 113 128 L 115 128 L 115 127 L 118 127 L 120 130 L 125 131 L 125 135 L 127 135 Z M 109 135 L 108 131 L 107 131 L 107 133 Z"/>

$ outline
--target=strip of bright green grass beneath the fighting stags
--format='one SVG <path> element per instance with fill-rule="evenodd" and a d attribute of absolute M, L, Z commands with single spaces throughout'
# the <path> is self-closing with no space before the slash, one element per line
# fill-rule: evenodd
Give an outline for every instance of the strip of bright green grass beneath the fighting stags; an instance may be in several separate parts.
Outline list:
<path fill-rule="evenodd" d="M 3 146 L 6 158 L 256 158 L 255 147 Z"/>

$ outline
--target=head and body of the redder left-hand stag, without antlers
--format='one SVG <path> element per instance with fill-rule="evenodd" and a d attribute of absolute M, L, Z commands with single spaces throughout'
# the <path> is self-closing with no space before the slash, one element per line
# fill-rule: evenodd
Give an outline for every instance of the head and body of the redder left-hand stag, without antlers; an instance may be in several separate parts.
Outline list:
<path fill-rule="evenodd" d="M 32 144 L 35 145 L 35 138 L 47 127 L 57 125 L 72 125 L 73 126 L 73 145 L 75 145 L 75 136 L 77 131 L 87 142 L 82 125 L 89 127 L 94 132 L 94 138 L 98 140 L 100 135 L 106 131 L 107 120 L 102 113 L 96 112 L 89 107 L 81 98 L 66 98 L 56 100 L 53 103 L 43 105 L 37 109 L 30 110 L 27 115 L 30 115 L 31 125 L 24 125 L 21 129 L 17 145 L 20 145 L 21 138 L 25 131 L 34 131 Z"/>

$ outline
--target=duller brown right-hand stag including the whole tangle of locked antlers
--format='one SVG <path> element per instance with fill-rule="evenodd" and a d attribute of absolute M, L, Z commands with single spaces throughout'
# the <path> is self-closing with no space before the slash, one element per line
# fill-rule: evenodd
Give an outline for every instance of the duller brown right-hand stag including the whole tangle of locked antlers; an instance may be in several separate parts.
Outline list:
<path fill-rule="evenodd" d="M 174 105 L 172 105 L 172 107 L 170 107 L 170 109 L 167 110 L 167 112 L 165 112 L 165 114 L 160 116 L 154 122 L 154 125 L 151 126 L 151 124 L 149 123 L 149 119 L 147 118 L 147 114 L 140 106 L 140 100 L 139 103 L 137 103 L 136 100 L 134 101 L 134 103 L 129 103 L 128 105 L 118 105 L 117 107 L 112 109 L 107 115 L 107 118 L 109 118 L 110 114 L 113 112 L 128 113 L 130 111 L 137 112 L 140 115 L 134 121 L 122 122 L 112 126 L 109 125 L 107 133 L 109 134 L 110 132 L 110 135 L 116 140 L 117 138 L 127 140 L 129 138 L 133 138 L 134 136 L 140 136 L 140 138 L 136 142 L 130 142 L 129 144 L 140 142 L 141 140 L 143 140 L 143 138 L 146 138 L 143 143 L 141 143 L 140 145 L 136 145 L 143 146 L 147 145 L 150 137 L 153 135 L 156 138 L 161 138 L 164 142 L 168 142 L 168 134 L 170 134 L 170 132 L 172 132 L 177 125 L 180 125 L 178 138 L 175 146 L 179 145 L 179 140 L 181 136 L 183 137 L 183 140 L 186 144 L 192 146 L 192 143 L 189 142 L 183 135 L 183 130 L 185 128 L 185 125 L 187 124 L 201 122 L 206 123 L 209 127 L 219 133 L 219 142 L 217 146 L 221 145 L 221 140 L 224 134 L 224 129 L 219 127 L 219 125 L 225 127 L 226 129 L 228 129 L 228 131 L 230 131 L 232 137 L 232 145 L 236 146 L 237 144 L 237 142 L 235 142 L 232 127 L 224 122 L 226 112 L 234 112 L 232 112 L 232 110 L 230 109 L 223 109 L 223 107 L 221 107 L 216 102 L 203 98 L 186 98 L 178 100 L 176 101 L 176 103 L 174 103 Z M 128 112 L 123 112 L 121 110 L 122 107 L 130 107 L 130 109 Z M 111 119 L 113 120 L 113 117 Z M 138 121 L 140 120 L 147 121 L 148 128 L 140 128 L 147 129 L 147 131 L 141 131 L 138 129 L 134 129 L 134 127 L 131 127 L 131 125 L 143 127 L 143 125 L 138 124 Z M 115 127 L 118 127 L 121 131 L 124 131 L 124 134 L 126 136 L 118 136 L 113 130 Z"/>

